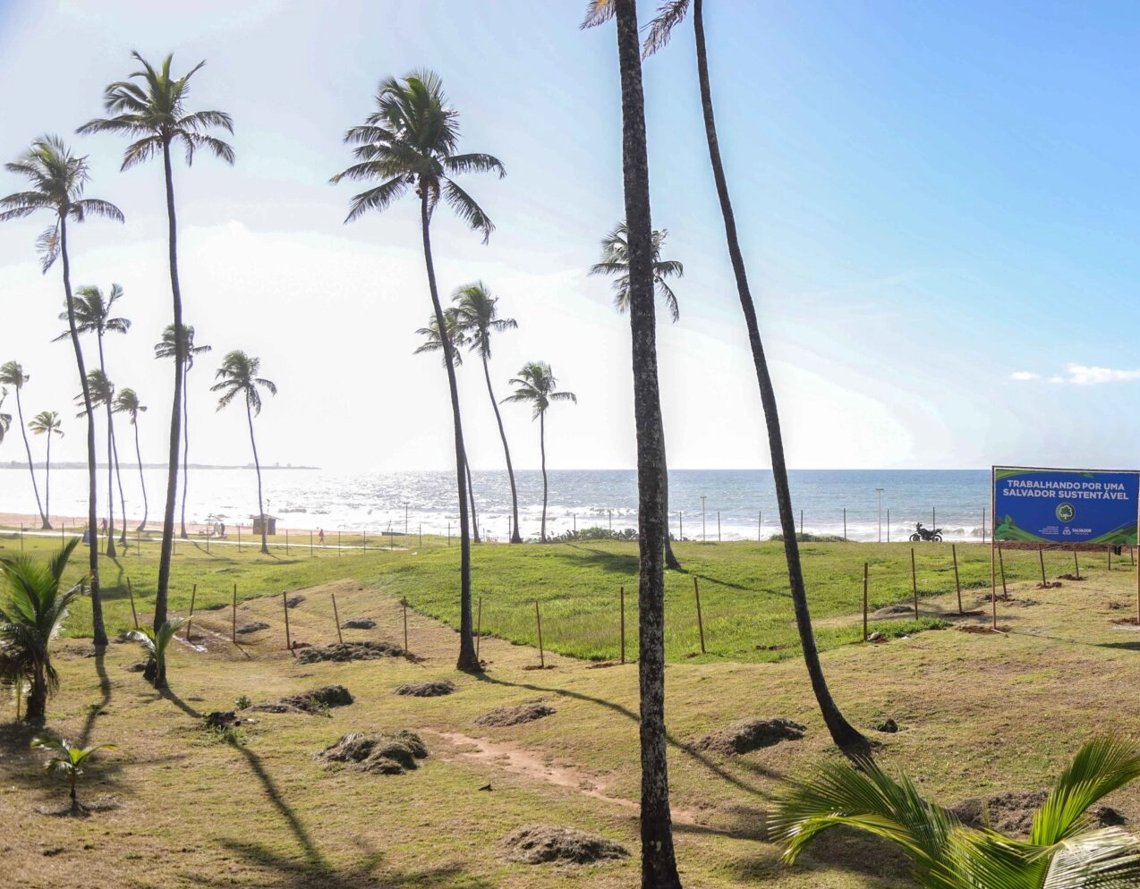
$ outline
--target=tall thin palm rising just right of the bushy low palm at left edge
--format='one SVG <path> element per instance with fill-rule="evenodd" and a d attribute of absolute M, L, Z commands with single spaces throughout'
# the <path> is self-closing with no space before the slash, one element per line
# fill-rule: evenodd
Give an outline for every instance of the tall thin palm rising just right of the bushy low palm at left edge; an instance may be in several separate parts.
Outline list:
<path fill-rule="evenodd" d="M 63 260 L 64 296 L 67 301 L 67 325 L 71 328 L 72 348 L 80 385 L 83 388 L 83 408 L 88 411 L 87 423 L 87 521 L 91 528 L 91 544 L 88 548 L 88 565 L 91 579 L 91 625 L 96 646 L 107 644 L 107 630 L 103 623 L 103 598 L 99 595 L 99 539 L 95 533 L 98 515 L 98 496 L 95 463 L 95 418 L 91 416 L 90 393 L 87 391 L 87 367 L 83 350 L 79 344 L 75 327 L 75 301 L 71 288 L 71 258 L 67 253 L 67 222 L 82 222 L 88 217 L 104 217 L 119 222 L 123 214 L 114 204 L 95 197 L 83 197 L 83 189 L 90 179 L 85 157 L 75 157 L 57 136 L 44 136 L 32 142 L 32 147 L 15 163 L 5 168 L 31 182 L 30 190 L 18 191 L 0 198 L 0 222 L 23 219 L 40 210 L 50 212 L 55 219 L 40 235 L 36 246 L 40 251 L 44 274 Z M 44 519 L 47 513 L 44 513 Z"/>

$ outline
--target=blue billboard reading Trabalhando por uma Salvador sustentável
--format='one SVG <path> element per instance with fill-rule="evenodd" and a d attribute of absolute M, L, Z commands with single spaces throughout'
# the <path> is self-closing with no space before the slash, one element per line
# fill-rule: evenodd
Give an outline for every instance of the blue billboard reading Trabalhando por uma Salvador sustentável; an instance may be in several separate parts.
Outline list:
<path fill-rule="evenodd" d="M 993 467 L 994 540 L 1135 546 L 1140 472 Z"/>

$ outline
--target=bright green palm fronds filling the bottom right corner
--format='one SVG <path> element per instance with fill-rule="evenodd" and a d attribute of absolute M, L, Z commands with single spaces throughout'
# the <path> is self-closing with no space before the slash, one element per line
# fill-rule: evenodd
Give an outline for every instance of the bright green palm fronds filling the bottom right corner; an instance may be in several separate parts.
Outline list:
<path fill-rule="evenodd" d="M 1110 889 L 1140 884 L 1140 840 L 1099 827 L 1089 808 L 1140 777 L 1132 741 L 1089 741 L 1061 773 L 1033 818 L 1029 839 L 975 830 L 928 802 L 910 778 L 895 781 L 874 762 L 831 764 L 795 783 L 768 822 L 793 863 L 820 833 L 855 827 L 890 840 L 927 889 Z"/>

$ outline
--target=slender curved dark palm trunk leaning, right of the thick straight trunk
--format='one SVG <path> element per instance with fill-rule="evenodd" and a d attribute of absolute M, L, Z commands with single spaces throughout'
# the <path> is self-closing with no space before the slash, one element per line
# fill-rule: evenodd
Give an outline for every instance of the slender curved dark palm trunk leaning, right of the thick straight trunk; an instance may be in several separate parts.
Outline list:
<path fill-rule="evenodd" d="M 788 562 L 788 581 L 791 586 L 791 598 L 796 610 L 796 626 L 799 629 L 800 645 L 804 649 L 804 661 L 812 680 L 812 691 L 823 713 L 832 741 L 848 756 L 870 756 L 866 739 L 852 726 L 839 711 L 828 682 L 820 664 L 820 653 L 815 647 L 815 635 L 812 631 L 812 615 L 807 607 L 807 592 L 804 587 L 804 572 L 799 561 L 799 544 L 796 540 L 796 519 L 792 513 L 791 492 L 788 487 L 788 468 L 784 464 L 783 439 L 780 433 L 780 415 L 776 409 L 775 389 L 768 373 L 767 360 L 764 357 L 764 345 L 760 342 L 760 329 L 756 320 L 756 307 L 748 287 L 748 276 L 744 271 L 744 259 L 736 237 L 736 220 L 728 198 L 728 183 L 720 162 L 720 147 L 716 136 L 716 121 L 712 116 L 712 91 L 709 85 L 708 54 L 705 47 L 705 22 L 701 15 L 701 0 L 693 0 L 693 30 L 697 36 L 697 74 L 701 89 L 701 107 L 705 113 L 705 136 L 708 140 L 709 161 L 712 164 L 712 178 L 716 180 L 717 197 L 720 199 L 720 213 L 724 217 L 725 238 L 728 242 L 728 256 L 736 278 L 736 291 L 740 295 L 740 307 L 744 312 L 748 326 L 748 341 L 752 348 L 752 361 L 756 365 L 756 378 L 760 388 L 760 403 L 764 407 L 764 418 L 768 427 L 768 448 L 772 451 L 772 474 L 776 488 L 776 504 L 780 511 L 780 528 L 784 539 L 784 556 Z"/>

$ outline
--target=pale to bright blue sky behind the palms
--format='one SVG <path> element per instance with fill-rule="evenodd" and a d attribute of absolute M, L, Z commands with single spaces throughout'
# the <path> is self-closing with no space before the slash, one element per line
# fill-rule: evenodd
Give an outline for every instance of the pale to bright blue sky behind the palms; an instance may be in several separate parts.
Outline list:
<path fill-rule="evenodd" d="M 462 114 L 463 147 L 508 171 L 466 182 L 498 226 L 488 246 L 438 218 L 441 286 L 482 278 L 519 319 L 496 345 L 500 397 L 536 358 L 577 392 L 552 416 L 552 465 L 634 464 L 628 328 L 608 285 L 585 276 L 621 214 L 614 39 L 579 32 L 581 6 L 349 2 L 333 16 L 272 0 L 0 0 L 0 157 L 68 134 L 90 155 L 90 194 L 128 215 L 85 225 L 73 259 L 76 283 L 127 289 L 136 328 L 108 369 L 152 403 L 145 456 L 160 458 L 168 410 L 166 368 L 149 357 L 170 312 L 161 170 L 119 173 L 121 140 L 70 136 L 133 70 L 132 48 L 173 50 L 176 70 L 206 58 L 192 105 L 236 122 L 234 169 L 202 157 L 177 172 L 184 288 L 214 358 L 256 353 L 280 386 L 259 419 L 268 462 L 448 465 L 446 382 L 412 354 L 429 313 L 414 202 L 343 226 L 351 188 L 327 183 L 378 80 L 429 66 Z M 790 465 L 1132 465 L 1140 7 L 710 0 L 706 15 Z M 63 62 L 44 64 L 49 52 Z M 670 460 L 766 466 L 687 24 L 646 63 L 645 85 L 653 220 L 686 269 L 681 321 L 660 333 Z M 0 191 L 16 190 L 5 176 Z M 40 227 L 0 228 L 0 360 L 33 374 L 28 409 L 70 416 L 73 365 L 48 343 L 59 279 L 32 252 Z M 212 358 L 201 367 L 196 456 L 244 462 L 243 418 L 214 414 Z M 498 467 L 474 362 L 463 388 L 472 463 Z M 529 414 L 505 414 L 516 462 L 536 466 Z M 73 425 L 60 450 L 79 458 Z M 13 439 L 0 449 L 19 457 Z"/>

